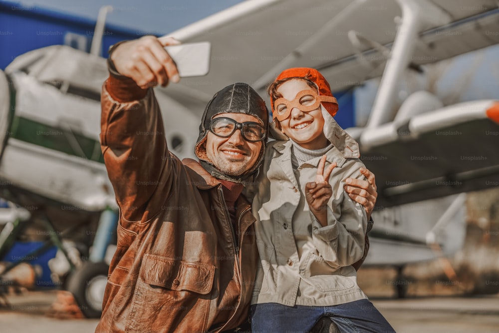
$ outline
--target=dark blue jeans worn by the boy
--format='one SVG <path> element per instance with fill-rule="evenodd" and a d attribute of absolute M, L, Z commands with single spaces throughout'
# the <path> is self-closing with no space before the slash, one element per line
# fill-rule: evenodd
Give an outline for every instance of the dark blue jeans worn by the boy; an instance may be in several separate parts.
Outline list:
<path fill-rule="evenodd" d="M 366 299 L 329 307 L 255 304 L 250 309 L 251 330 L 253 333 L 304 333 L 323 316 L 329 317 L 340 332 L 395 332 Z"/>

